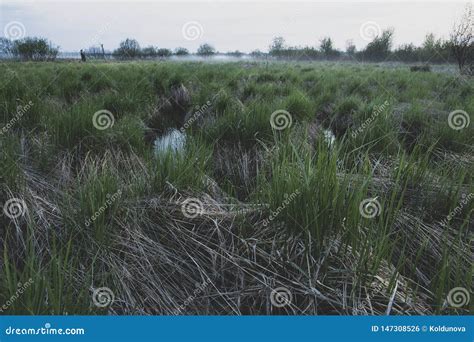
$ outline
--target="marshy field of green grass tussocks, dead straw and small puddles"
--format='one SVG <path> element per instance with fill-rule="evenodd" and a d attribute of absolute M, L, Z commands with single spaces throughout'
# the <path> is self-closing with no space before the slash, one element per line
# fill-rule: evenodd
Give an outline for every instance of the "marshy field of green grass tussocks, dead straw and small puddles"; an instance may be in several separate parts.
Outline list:
<path fill-rule="evenodd" d="M 0 74 L 3 314 L 472 313 L 472 77 L 264 61 Z"/>

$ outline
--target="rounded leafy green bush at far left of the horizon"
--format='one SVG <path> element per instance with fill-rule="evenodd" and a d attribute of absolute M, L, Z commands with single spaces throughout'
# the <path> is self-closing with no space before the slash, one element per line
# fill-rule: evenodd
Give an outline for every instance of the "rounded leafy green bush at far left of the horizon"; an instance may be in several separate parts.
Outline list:
<path fill-rule="evenodd" d="M 12 46 L 12 53 L 15 57 L 29 61 L 50 61 L 55 60 L 59 47 L 55 47 L 45 38 L 27 37 L 15 40 Z"/>

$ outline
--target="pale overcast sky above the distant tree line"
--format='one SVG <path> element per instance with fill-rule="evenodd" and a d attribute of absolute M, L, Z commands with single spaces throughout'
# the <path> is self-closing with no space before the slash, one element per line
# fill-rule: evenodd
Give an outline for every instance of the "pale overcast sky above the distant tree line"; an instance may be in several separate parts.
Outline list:
<path fill-rule="evenodd" d="M 471 2 L 473 0 L 470 0 Z M 267 51 L 275 36 L 291 46 L 319 46 L 330 36 L 339 49 L 348 40 L 363 48 L 386 28 L 394 45 L 423 42 L 427 33 L 448 38 L 466 1 L 144 1 L 0 0 L 2 36 L 45 37 L 61 51 L 125 38 L 142 47 L 185 47 L 209 43 L 218 51 Z"/>

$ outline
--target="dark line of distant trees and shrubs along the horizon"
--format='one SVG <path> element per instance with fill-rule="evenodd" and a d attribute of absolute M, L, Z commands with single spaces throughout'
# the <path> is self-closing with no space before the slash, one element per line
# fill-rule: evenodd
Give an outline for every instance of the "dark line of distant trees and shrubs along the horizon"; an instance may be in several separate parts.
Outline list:
<path fill-rule="evenodd" d="M 294 47 L 285 44 L 283 37 L 275 37 L 269 47 L 269 52 L 264 53 L 255 50 L 250 53 L 256 58 L 272 57 L 296 60 L 351 60 L 369 62 L 400 61 L 400 62 L 421 62 L 421 63 L 457 63 L 462 73 L 474 73 L 474 39 L 470 19 L 472 8 L 466 7 L 466 13 L 461 21 L 454 26 L 449 40 L 436 39 L 434 34 L 426 35 L 421 46 L 414 44 L 404 44 L 396 49 L 393 45 L 393 29 L 386 29 L 377 34 L 367 44 L 367 46 L 357 51 L 352 41 L 346 44 L 346 50 L 341 51 L 334 48 L 330 37 L 325 37 L 320 41 L 319 47 L 305 46 Z M 7 38 L 0 38 L 0 56 L 13 56 L 21 60 L 47 61 L 54 60 L 58 55 L 59 47 L 53 46 L 45 38 L 24 38 L 11 41 Z M 82 51 L 82 50 L 81 50 Z M 105 53 L 103 45 L 92 46 L 85 51 L 88 57 L 115 59 L 148 59 L 166 58 L 172 55 L 186 56 L 189 51 L 186 48 L 178 47 L 174 51 L 167 48 L 147 46 L 142 48 L 136 39 L 127 38 L 122 41 L 113 52 Z M 82 53 L 82 52 L 81 52 Z M 212 56 L 216 54 L 216 49 L 205 43 L 199 46 L 196 54 L 198 56 Z M 227 55 L 240 57 L 240 51 L 228 52 Z M 429 71 L 425 69 L 413 69 L 412 71 Z"/>

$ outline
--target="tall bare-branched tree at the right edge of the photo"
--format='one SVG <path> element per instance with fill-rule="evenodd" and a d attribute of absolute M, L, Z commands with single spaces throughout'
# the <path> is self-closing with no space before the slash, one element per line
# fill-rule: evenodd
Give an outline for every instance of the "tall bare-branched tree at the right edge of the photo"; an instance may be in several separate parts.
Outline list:
<path fill-rule="evenodd" d="M 461 20 L 454 25 L 450 43 L 459 71 L 461 73 L 474 72 L 474 36 L 471 4 L 466 6 Z"/>

